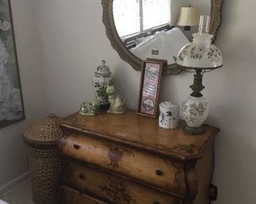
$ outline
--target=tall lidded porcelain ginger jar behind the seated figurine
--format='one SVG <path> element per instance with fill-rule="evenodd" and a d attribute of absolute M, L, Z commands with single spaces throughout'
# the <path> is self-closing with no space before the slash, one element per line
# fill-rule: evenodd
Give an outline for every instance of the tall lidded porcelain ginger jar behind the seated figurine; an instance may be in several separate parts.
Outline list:
<path fill-rule="evenodd" d="M 113 78 L 109 67 L 106 66 L 106 61 L 102 60 L 102 64 L 97 67 L 95 71 L 95 76 L 92 80 L 95 97 L 100 100 L 102 107 L 109 107 L 108 94 L 106 93 L 106 86 L 113 84 Z"/>

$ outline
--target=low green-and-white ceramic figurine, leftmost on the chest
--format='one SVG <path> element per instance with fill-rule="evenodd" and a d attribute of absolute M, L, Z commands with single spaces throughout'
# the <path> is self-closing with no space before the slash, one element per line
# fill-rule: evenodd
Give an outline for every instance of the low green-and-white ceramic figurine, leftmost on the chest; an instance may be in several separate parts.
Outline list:
<path fill-rule="evenodd" d="M 80 115 L 93 116 L 99 113 L 100 100 L 94 99 L 92 102 L 83 102 L 80 107 Z"/>

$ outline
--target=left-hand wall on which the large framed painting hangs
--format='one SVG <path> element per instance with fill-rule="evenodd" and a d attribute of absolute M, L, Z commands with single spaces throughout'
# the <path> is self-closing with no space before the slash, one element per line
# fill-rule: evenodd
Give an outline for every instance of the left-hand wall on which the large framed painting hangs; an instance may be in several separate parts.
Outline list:
<path fill-rule="evenodd" d="M 9 187 L 10 181 L 28 172 L 21 131 L 25 124 L 39 118 L 41 107 L 39 55 L 36 32 L 32 27 L 32 1 L 12 0 L 12 8 L 27 119 L 0 129 L 0 194 Z"/>

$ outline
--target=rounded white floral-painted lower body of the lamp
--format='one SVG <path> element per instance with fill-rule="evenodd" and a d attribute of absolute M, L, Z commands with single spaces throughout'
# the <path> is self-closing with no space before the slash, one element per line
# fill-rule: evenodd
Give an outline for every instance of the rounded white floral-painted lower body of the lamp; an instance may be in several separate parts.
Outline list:
<path fill-rule="evenodd" d="M 209 104 L 205 97 L 187 97 L 182 102 L 182 114 L 187 126 L 197 128 L 202 126 L 209 114 Z"/>

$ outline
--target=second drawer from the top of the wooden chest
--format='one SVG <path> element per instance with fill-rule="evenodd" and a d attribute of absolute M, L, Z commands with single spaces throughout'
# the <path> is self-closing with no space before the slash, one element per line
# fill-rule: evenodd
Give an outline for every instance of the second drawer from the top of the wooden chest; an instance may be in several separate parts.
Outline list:
<path fill-rule="evenodd" d="M 135 184 L 130 180 L 113 176 L 110 173 L 95 169 L 91 166 L 83 166 L 76 162 L 69 162 L 65 169 L 65 185 L 89 191 L 97 198 L 109 201 L 108 203 L 136 203 L 136 204 L 181 204 L 180 199 L 147 188 L 141 184 Z"/>

